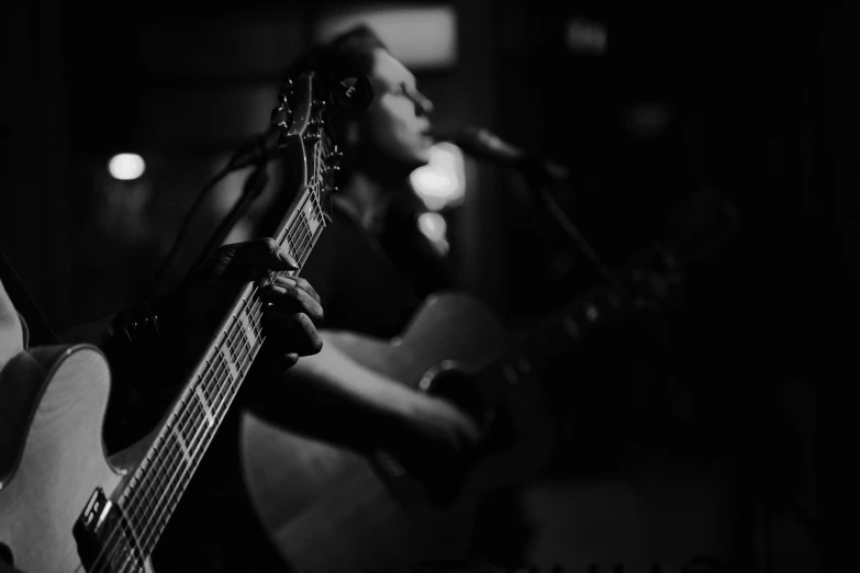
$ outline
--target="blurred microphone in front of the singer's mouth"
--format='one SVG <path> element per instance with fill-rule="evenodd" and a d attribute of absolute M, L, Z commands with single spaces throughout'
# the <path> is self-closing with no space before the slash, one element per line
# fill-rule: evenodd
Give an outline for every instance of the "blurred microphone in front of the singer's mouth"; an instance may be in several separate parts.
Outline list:
<path fill-rule="evenodd" d="M 570 170 L 516 147 L 483 127 L 462 127 L 454 133 L 432 132 L 437 141 L 451 142 L 467 154 L 488 161 L 510 165 L 544 181 L 567 181 Z"/>

